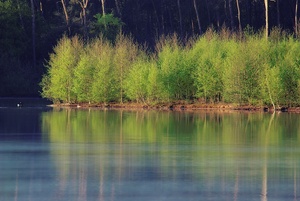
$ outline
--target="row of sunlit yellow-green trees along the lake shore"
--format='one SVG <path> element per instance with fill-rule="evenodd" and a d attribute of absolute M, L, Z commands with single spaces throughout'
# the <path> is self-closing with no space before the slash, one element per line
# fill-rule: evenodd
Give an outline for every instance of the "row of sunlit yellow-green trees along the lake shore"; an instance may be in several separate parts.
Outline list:
<path fill-rule="evenodd" d="M 209 29 L 180 41 L 161 37 L 155 51 L 120 34 L 84 43 L 64 36 L 47 63 L 42 95 L 56 103 L 172 101 L 299 106 L 300 42 L 273 29 L 244 32 Z"/>

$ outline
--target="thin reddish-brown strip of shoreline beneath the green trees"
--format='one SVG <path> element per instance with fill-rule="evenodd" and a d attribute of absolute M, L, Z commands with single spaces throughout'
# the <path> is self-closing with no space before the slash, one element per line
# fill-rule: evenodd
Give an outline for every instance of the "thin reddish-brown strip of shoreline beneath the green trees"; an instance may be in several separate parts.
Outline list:
<path fill-rule="evenodd" d="M 228 103 L 160 103 L 149 105 L 146 103 L 107 103 L 107 104 L 89 104 L 89 103 L 62 103 L 48 105 L 53 108 L 99 108 L 99 109 L 129 109 L 129 110 L 158 110 L 158 111 L 252 111 L 252 112 L 274 112 L 272 106 L 254 106 L 254 105 L 237 105 Z M 300 107 L 280 107 L 276 112 L 300 113 Z"/>

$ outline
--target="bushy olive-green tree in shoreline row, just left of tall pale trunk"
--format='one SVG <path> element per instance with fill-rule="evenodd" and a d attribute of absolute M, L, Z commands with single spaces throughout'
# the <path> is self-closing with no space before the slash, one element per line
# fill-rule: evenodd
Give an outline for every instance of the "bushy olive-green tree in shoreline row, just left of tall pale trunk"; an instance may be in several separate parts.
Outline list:
<path fill-rule="evenodd" d="M 224 100 L 240 104 L 260 104 L 263 41 L 253 38 L 236 45 L 224 75 Z"/>

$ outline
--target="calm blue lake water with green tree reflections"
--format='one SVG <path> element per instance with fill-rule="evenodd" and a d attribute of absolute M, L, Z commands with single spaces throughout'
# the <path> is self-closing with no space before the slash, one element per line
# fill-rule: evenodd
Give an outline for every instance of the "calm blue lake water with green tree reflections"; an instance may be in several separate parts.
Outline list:
<path fill-rule="evenodd" d="M 300 200 L 299 122 L 0 105 L 0 200 Z"/>

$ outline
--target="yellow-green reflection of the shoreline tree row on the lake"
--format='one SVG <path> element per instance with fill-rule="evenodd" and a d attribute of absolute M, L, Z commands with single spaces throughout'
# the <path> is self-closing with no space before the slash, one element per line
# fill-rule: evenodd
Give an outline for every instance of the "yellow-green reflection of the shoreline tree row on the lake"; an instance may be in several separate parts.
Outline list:
<path fill-rule="evenodd" d="M 100 200 L 153 199 L 153 190 L 179 200 L 298 198 L 296 114 L 62 110 L 42 120 L 44 137 L 64 144 L 51 148 L 61 192 L 72 178 L 83 200 L 91 180 Z"/>

